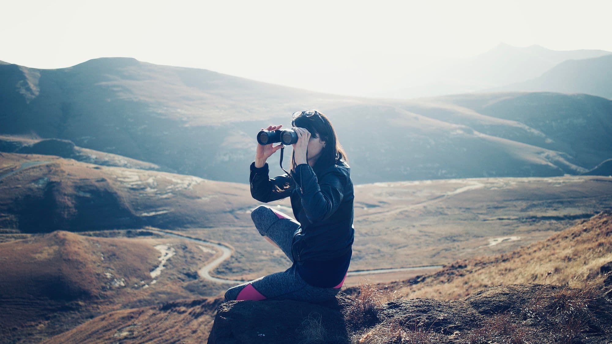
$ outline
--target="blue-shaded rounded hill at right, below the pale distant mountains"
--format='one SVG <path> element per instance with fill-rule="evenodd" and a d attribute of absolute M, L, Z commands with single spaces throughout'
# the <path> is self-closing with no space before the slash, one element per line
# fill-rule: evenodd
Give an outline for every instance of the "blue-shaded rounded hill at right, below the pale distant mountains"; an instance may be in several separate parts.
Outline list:
<path fill-rule="evenodd" d="M 568 162 L 582 168 L 590 170 L 602 162 L 601 157 L 612 157 L 612 102 L 600 97 L 501 92 L 446 95 L 430 101 L 444 110 L 417 110 L 488 135 L 563 152 Z"/>

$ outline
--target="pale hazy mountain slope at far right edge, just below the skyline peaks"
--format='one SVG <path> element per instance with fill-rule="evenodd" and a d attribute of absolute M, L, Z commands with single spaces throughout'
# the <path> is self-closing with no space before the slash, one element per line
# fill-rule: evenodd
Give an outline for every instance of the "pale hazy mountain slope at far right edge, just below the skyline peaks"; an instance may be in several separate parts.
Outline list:
<path fill-rule="evenodd" d="M 549 91 L 586 93 L 612 99 L 612 54 L 599 58 L 569 60 L 532 80 L 487 91 Z"/>

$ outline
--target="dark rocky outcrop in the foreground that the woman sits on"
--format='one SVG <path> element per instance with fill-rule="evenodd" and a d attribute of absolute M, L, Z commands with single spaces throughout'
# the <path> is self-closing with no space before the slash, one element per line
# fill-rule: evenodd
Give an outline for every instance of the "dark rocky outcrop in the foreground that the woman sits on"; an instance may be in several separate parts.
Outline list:
<path fill-rule="evenodd" d="M 600 290 L 599 290 L 600 291 Z M 359 296 L 340 293 L 327 304 L 230 301 L 217 308 L 208 343 L 610 343 L 610 300 L 595 290 L 551 285 L 491 286 L 458 301 L 396 299 L 376 307 L 375 321 L 354 323 Z M 586 301 L 585 301 L 586 300 Z M 583 302 L 580 310 L 577 302 Z M 564 308 L 569 304 L 569 308 Z M 351 314 L 353 312 L 353 314 Z M 580 320 L 580 327 L 572 321 Z M 394 341 L 395 340 L 395 341 Z"/>

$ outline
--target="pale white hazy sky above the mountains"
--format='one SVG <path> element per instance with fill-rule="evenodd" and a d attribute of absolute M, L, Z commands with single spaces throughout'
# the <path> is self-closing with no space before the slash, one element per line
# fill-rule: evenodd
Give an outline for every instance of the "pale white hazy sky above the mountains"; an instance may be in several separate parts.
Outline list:
<path fill-rule="evenodd" d="M 501 42 L 612 51 L 610 0 L 36 0 L 0 8 L 2 61 L 50 69 L 128 56 L 337 93 Z"/>

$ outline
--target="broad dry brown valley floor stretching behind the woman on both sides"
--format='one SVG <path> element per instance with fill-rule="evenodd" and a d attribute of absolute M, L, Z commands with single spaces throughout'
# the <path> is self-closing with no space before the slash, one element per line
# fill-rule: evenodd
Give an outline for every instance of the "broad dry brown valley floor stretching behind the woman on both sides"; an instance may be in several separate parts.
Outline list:
<path fill-rule="evenodd" d="M 9 166 L 28 161 L 23 154 L 5 155 L 12 159 Z M 572 176 L 357 185 L 350 269 L 447 264 L 458 257 L 510 252 L 611 208 L 609 180 Z M 267 205 L 291 214 L 289 200 Z M 256 206 L 247 184 L 67 159 L 32 166 L 0 181 L 3 231 L 146 225 L 179 230 L 233 246 L 236 254 L 216 271 L 230 279 L 256 278 L 290 264 L 256 232 L 249 215 Z M 518 240 L 490 245 L 503 237 Z M 348 279 L 352 285 L 357 282 Z"/>

